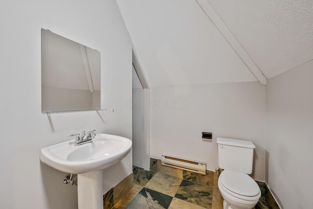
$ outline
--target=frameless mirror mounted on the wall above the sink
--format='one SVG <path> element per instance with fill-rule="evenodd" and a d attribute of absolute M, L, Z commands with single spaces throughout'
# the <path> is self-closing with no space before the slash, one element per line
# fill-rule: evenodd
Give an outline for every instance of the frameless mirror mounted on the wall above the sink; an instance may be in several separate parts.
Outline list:
<path fill-rule="evenodd" d="M 100 52 L 41 30 L 42 113 L 100 110 Z"/>

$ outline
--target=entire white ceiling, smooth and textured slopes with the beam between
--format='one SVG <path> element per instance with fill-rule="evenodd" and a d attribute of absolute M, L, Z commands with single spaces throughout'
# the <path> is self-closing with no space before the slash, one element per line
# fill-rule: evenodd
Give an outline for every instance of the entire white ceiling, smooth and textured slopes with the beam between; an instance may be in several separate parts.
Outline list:
<path fill-rule="evenodd" d="M 117 2 L 151 87 L 265 84 L 313 59 L 311 0 Z"/>

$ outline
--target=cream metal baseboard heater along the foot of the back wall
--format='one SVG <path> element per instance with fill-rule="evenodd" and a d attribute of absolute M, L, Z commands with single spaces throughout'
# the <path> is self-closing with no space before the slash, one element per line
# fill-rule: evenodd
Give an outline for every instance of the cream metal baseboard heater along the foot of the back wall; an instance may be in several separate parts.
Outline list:
<path fill-rule="evenodd" d="M 162 165 L 188 170 L 195 173 L 205 174 L 206 163 L 203 162 L 191 161 L 169 155 L 162 155 L 161 162 Z"/>

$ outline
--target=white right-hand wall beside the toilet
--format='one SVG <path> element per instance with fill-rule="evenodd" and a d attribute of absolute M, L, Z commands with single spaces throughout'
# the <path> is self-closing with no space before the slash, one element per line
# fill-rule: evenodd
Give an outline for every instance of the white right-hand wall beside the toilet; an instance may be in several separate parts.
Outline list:
<path fill-rule="evenodd" d="M 268 186 L 284 209 L 312 208 L 313 61 L 268 80 Z"/>

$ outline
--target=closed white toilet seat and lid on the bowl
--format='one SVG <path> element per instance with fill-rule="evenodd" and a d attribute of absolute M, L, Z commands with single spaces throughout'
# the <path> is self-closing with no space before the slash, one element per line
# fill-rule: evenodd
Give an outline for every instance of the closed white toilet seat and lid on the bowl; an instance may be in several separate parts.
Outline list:
<path fill-rule="evenodd" d="M 220 190 L 222 189 L 230 196 L 244 200 L 244 202 L 254 202 L 261 197 L 258 184 L 245 173 L 224 170 L 219 177 L 218 183 Z"/>

